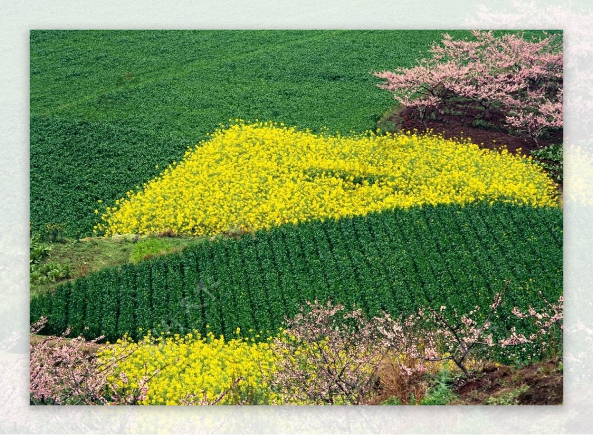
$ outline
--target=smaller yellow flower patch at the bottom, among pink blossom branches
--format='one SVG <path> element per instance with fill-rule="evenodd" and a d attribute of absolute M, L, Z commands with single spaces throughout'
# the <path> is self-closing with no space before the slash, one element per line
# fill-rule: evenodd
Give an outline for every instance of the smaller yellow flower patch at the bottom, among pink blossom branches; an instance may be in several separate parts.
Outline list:
<path fill-rule="evenodd" d="M 120 357 L 132 350 L 130 356 Z M 212 333 L 201 337 L 197 331 L 184 337 L 155 338 L 148 333 L 137 344 L 127 337 L 108 344 L 98 357 L 104 364 L 118 361 L 108 381 L 119 392 L 133 392 L 142 378 L 148 378 L 141 405 L 278 404 L 280 400 L 266 382 L 275 369 L 267 342 L 225 341 Z"/>

